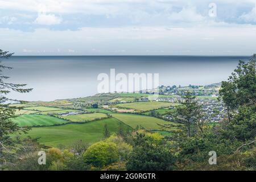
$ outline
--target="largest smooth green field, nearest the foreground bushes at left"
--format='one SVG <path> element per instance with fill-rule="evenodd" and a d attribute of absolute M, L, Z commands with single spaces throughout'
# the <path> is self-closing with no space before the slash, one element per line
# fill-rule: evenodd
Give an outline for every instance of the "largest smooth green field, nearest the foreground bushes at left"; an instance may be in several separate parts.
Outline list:
<path fill-rule="evenodd" d="M 69 146 L 77 140 L 94 143 L 103 139 L 105 124 L 108 126 L 110 133 L 115 133 L 118 131 L 120 122 L 117 119 L 108 118 L 84 124 L 72 123 L 62 126 L 35 127 L 28 134 L 23 134 L 22 137 L 40 137 L 40 143 L 51 147 L 57 147 L 60 144 Z M 121 125 L 123 124 L 121 123 Z M 123 125 L 123 129 L 130 130 L 130 127 Z"/>

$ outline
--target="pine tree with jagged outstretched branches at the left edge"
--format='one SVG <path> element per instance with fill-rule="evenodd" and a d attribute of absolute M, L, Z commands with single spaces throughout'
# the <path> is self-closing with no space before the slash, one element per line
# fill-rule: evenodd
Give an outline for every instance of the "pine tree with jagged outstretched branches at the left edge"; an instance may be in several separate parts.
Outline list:
<path fill-rule="evenodd" d="M 7 98 L 6 95 L 11 91 L 19 93 L 28 93 L 32 89 L 24 89 L 26 84 L 13 84 L 6 82 L 8 76 L 3 73 L 4 69 L 13 69 L 11 67 L 6 67 L 2 64 L 2 59 L 9 59 L 13 53 L 8 51 L 2 51 L 0 49 L 0 164 L 7 163 L 7 158 L 15 158 L 15 149 L 18 143 L 15 142 L 13 138 L 10 137 L 14 133 L 26 133 L 29 130 L 28 127 L 20 127 L 17 123 L 12 121 L 14 118 L 14 111 L 18 107 L 13 107 L 10 102 L 24 103 L 24 101 L 12 100 Z"/>

